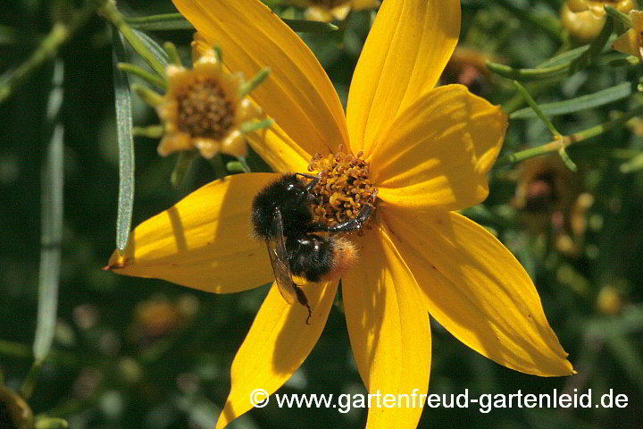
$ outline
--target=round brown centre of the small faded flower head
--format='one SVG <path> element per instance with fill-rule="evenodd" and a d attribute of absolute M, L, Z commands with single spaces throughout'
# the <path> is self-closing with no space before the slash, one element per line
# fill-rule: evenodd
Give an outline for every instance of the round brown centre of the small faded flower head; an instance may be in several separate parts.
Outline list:
<path fill-rule="evenodd" d="M 182 88 L 176 100 L 178 127 L 192 137 L 222 139 L 235 123 L 234 104 L 211 77 L 197 76 Z"/>

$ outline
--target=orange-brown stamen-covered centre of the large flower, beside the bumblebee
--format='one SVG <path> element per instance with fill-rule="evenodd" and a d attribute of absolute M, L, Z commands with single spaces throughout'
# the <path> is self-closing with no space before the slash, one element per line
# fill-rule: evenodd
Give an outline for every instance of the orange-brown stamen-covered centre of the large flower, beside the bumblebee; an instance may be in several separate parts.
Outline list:
<path fill-rule="evenodd" d="M 312 189 L 319 199 L 313 207 L 315 222 L 335 226 L 355 219 L 366 206 L 374 211 L 378 189 L 369 179 L 369 164 L 362 155 L 345 154 L 340 146 L 337 154 L 313 156 L 308 171 L 318 173 Z"/>

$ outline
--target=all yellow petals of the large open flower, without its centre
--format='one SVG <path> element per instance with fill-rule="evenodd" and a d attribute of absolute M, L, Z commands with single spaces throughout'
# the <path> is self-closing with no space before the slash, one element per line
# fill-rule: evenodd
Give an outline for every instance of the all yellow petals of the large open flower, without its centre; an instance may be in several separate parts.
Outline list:
<path fill-rule="evenodd" d="M 486 174 L 507 127 L 497 106 L 461 85 L 434 88 L 460 33 L 457 0 L 387 0 L 363 47 L 347 114 L 304 42 L 258 0 L 174 0 L 232 70 L 271 67 L 253 99 L 275 120 L 250 145 L 276 172 L 305 172 L 315 154 L 363 152 L 379 189 L 372 229 L 351 237 L 360 261 L 342 277 L 355 363 L 371 393 L 428 390 L 429 315 L 500 365 L 572 374 L 536 288 L 512 254 L 455 210 L 484 200 Z M 271 282 L 265 244 L 252 238 L 255 194 L 279 177 L 214 181 L 140 224 L 114 254 L 116 273 L 229 293 Z M 337 282 L 305 284 L 313 308 L 289 305 L 273 285 L 231 368 L 217 427 L 252 408 L 250 393 L 277 391 L 326 323 Z M 261 356 L 261 358 L 257 358 Z M 404 397 L 403 397 L 404 398 Z M 412 428 L 422 403 L 373 407 L 367 427 Z"/>

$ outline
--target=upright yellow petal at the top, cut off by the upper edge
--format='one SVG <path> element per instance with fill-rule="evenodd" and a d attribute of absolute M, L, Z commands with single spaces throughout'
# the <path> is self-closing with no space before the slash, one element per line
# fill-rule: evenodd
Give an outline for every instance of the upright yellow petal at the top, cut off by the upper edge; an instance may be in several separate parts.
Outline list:
<path fill-rule="evenodd" d="M 351 149 L 368 156 L 381 130 L 433 88 L 460 35 L 459 0 L 387 0 L 355 67 L 347 105 Z"/>

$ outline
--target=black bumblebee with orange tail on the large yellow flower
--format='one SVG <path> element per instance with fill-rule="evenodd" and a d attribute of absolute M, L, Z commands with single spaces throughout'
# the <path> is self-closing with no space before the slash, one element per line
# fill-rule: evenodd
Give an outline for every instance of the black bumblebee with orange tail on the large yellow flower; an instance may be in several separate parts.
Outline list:
<path fill-rule="evenodd" d="M 281 296 L 308 309 L 306 324 L 313 310 L 293 276 L 323 282 L 346 272 L 355 263 L 356 249 L 337 234 L 362 229 L 372 214 L 372 207 L 364 206 L 355 219 L 334 226 L 314 222 L 312 208 L 319 200 L 312 189 L 317 181 L 311 174 L 284 174 L 260 190 L 252 206 L 255 236 L 266 243 Z"/>

